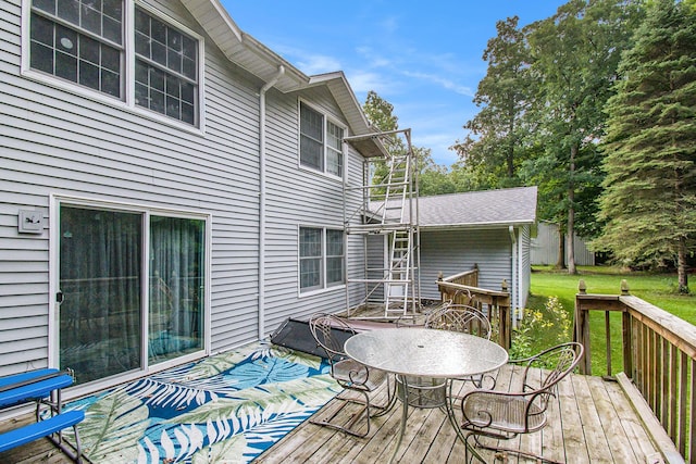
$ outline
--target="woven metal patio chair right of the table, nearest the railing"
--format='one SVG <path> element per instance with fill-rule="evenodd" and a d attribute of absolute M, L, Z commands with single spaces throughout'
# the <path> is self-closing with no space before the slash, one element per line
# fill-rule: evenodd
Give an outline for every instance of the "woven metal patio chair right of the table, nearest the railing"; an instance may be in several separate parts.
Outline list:
<path fill-rule="evenodd" d="M 478 448 L 554 462 L 521 450 L 484 444 L 480 437 L 509 440 L 520 434 L 532 434 L 544 428 L 549 400 L 556 397 L 558 383 L 575 368 L 582 356 L 583 346 L 569 342 L 549 348 L 532 358 L 511 361 L 510 363 L 524 366 L 522 387 L 518 391 L 474 390 L 463 396 L 461 427 L 467 432 L 464 439 L 469 441 L 473 438 Z M 534 367 L 540 367 L 543 374 L 533 375 L 539 373 Z M 465 462 L 469 462 L 468 454 L 469 447 Z"/>

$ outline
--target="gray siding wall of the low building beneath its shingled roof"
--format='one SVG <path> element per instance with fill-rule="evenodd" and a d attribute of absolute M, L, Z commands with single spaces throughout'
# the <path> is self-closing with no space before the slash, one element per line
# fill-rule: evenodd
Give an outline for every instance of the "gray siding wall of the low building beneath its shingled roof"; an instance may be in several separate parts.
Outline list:
<path fill-rule="evenodd" d="M 500 290 L 512 280 L 507 228 L 427 230 L 421 228 L 421 298 L 439 299 L 437 275 L 459 274 L 478 265 L 478 286 Z"/>

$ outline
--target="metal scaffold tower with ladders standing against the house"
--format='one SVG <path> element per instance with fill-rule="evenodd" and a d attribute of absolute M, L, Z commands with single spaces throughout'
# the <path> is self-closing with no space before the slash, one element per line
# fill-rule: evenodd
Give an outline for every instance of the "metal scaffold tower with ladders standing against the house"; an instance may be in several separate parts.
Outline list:
<path fill-rule="evenodd" d="M 409 310 L 415 314 L 420 305 L 418 159 L 411 146 L 411 129 L 346 137 L 344 140 L 359 147 L 369 138 L 377 140 L 384 148 L 382 155 L 365 159 L 360 185 L 344 185 L 346 234 L 364 237 L 364 276 L 346 279 L 346 306 L 350 315 L 352 310 L 381 300 L 378 304 L 384 305 L 384 314 L 364 318 L 400 318 L 408 316 Z M 376 172 L 380 172 L 380 178 L 375 177 Z M 362 201 L 352 210 L 349 208 L 349 192 L 356 191 L 361 192 Z M 373 258 L 368 255 L 368 239 L 375 236 L 384 237 L 384 248 L 388 248 L 384 263 L 378 266 L 374 261 L 368 264 Z M 364 294 L 357 304 L 351 301 L 353 284 L 364 286 Z"/>

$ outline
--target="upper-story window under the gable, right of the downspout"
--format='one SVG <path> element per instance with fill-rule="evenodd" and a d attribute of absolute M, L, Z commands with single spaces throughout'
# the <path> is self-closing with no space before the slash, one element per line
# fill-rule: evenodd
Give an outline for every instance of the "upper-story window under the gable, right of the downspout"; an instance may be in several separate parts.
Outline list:
<path fill-rule="evenodd" d="M 327 121 L 321 113 L 300 103 L 300 164 L 302 166 L 343 176 L 344 129 Z"/>

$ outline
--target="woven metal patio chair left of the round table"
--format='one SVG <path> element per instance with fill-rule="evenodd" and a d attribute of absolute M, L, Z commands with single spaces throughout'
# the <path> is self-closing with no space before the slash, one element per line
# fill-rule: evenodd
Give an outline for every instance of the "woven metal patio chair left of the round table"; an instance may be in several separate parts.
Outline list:
<path fill-rule="evenodd" d="M 356 330 L 345 318 L 334 314 L 315 314 L 310 318 L 309 327 L 314 340 L 316 340 L 316 346 L 321 347 L 326 353 L 326 360 L 331 364 L 331 376 L 344 389 L 357 391 L 363 397 L 363 400 L 344 398 L 340 394 L 336 397 L 338 400 L 362 405 L 362 409 L 345 424 L 314 419 L 310 422 L 341 430 L 356 437 L 365 437 L 370 432 L 370 418 L 385 414 L 394 405 L 394 391 L 390 387 L 388 374 L 384 371 L 370 368 L 348 358 L 344 351 L 344 343 L 347 337 L 356 334 Z M 382 404 L 371 403 L 371 393 L 385 381 L 387 384 L 386 402 Z M 376 410 L 376 413 L 371 413 L 372 407 Z M 366 423 L 364 431 L 359 431 L 359 421 L 361 418 L 364 418 Z"/>

